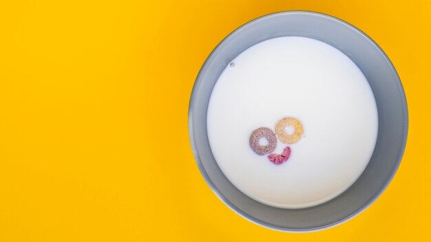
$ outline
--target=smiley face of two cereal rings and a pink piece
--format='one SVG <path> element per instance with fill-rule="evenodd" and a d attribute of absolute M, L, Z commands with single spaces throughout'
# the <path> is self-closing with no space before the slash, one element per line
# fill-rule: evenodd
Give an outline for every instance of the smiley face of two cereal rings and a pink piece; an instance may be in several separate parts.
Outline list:
<path fill-rule="evenodd" d="M 293 133 L 287 133 L 285 130 L 286 127 L 291 127 Z M 268 159 L 273 164 L 283 164 L 291 156 L 291 147 L 286 146 L 280 155 L 273 153 L 277 147 L 277 137 L 284 144 L 295 144 L 301 140 L 303 133 L 304 129 L 299 120 L 291 117 L 282 118 L 275 124 L 275 133 L 265 127 L 255 129 L 250 135 L 250 147 L 257 155 L 269 154 Z M 266 139 L 266 144 L 260 144 L 260 140 L 263 138 Z"/>

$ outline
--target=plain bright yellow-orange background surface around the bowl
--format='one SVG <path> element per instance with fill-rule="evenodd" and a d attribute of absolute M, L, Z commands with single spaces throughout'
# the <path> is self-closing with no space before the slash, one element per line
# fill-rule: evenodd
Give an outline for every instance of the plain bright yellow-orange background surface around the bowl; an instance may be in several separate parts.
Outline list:
<path fill-rule="evenodd" d="M 408 98 L 395 179 L 322 232 L 242 219 L 189 145 L 205 58 L 235 28 L 283 10 L 366 32 Z M 431 241 L 430 30 L 431 1 L 0 1 L 0 241 Z"/>

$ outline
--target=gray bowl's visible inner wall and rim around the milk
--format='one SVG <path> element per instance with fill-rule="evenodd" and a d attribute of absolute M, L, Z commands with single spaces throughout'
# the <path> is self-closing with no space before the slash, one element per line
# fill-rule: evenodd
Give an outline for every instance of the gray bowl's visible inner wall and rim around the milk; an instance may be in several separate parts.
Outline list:
<path fill-rule="evenodd" d="M 211 153 L 207 137 L 209 98 L 224 67 L 251 45 L 279 36 L 306 36 L 344 52 L 366 76 L 377 102 L 377 144 L 364 173 L 335 199 L 311 208 L 274 208 L 244 195 L 223 175 Z M 407 130 L 406 96 L 388 56 L 353 25 L 316 12 L 270 14 L 246 23 L 229 34 L 200 69 L 189 104 L 189 136 L 193 155 L 215 194 L 242 217 L 266 228 L 289 232 L 330 228 L 370 206 L 397 171 L 406 146 Z"/>

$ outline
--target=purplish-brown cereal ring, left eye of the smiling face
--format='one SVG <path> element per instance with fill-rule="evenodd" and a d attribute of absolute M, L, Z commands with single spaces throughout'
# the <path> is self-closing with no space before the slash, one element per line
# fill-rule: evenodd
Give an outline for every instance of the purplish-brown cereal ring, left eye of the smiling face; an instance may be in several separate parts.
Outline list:
<path fill-rule="evenodd" d="M 264 146 L 259 144 L 259 140 L 262 137 L 265 137 L 266 140 L 268 140 L 268 144 Z M 277 137 L 275 137 L 275 133 L 271 129 L 262 127 L 251 133 L 250 146 L 257 155 L 266 155 L 275 150 L 275 147 L 277 146 Z"/>

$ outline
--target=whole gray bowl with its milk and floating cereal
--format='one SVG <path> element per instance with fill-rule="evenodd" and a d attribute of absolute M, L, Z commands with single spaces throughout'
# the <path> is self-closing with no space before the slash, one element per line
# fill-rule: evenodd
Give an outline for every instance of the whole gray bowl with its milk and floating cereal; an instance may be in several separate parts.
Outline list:
<path fill-rule="evenodd" d="M 238 28 L 200 69 L 189 104 L 196 162 L 232 210 L 308 232 L 355 217 L 388 186 L 406 146 L 399 76 L 340 19 L 280 12 Z"/>

